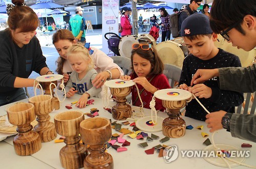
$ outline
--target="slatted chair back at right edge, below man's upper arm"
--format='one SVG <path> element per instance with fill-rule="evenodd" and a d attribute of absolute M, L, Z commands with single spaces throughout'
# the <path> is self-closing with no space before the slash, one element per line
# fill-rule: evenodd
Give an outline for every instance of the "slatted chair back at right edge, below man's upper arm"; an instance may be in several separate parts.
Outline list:
<path fill-rule="evenodd" d="M 256 92 L 254 93 L 245 93 L 245 101 L 240 106 L 238 106 L 237 113 L 240 114 L 255 114 L 256 107 Z M 242 110 L 243 108 L 243 110 Z"/>

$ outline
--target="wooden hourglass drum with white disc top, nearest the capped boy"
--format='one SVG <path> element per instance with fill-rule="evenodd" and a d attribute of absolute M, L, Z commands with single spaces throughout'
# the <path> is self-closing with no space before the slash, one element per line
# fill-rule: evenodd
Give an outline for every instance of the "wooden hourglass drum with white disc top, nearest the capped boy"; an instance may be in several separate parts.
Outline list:
<path fill-rule="evenodd" d="M 163 135 L 170 138 L 180 138 L 185 135 L 186 123 L 180 117 L 180 109 L 186 106 L 192 99 L 192 94 L 182 89 L 162 89 L 154 94 L 162 100 L 163 106 L 167 109 L 168 117 L 163 120 Z"/>

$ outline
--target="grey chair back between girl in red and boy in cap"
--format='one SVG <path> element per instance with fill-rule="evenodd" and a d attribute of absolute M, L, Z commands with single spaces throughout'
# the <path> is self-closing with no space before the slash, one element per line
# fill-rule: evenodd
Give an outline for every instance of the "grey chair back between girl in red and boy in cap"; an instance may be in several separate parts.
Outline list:
<path fill-rule="evenodd" d="M 176 65 L 164 64 L 163 74 L 169 79 L 170 87 L 177 88 L 182 69 Z"/>

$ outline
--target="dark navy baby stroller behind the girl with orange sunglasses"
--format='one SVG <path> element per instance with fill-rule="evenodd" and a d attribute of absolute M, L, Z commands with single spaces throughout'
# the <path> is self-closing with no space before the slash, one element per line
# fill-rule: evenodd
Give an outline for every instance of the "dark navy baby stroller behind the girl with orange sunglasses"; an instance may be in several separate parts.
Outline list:
<path fill-rule="evenodd" d="M 113 35 L 109 38 L 106 37 L 106 35 Z M 118 45 L 119 45 L 119 42 L 121 40 L 121 37 L 118 36 L 116 33 L 113 33 L 113 32 L 108 32 L 108 33 L 105 33 L 104 35 L 105 39 L 108 40 L 108 47 L 109 49 L 117 56 L 120 56 L 119 54 L 119 49 L 118 49 Z"/>

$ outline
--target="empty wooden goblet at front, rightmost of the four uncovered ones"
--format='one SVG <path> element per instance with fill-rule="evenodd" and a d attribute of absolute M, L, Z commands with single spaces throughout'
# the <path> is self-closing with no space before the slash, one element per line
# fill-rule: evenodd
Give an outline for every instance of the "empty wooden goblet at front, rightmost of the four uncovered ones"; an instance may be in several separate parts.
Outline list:
<path fill-rule="evenodd" d="M 105 143 L 112 135 L 110 120 L 103 117 L 85 119 L 80 123 L 80 134 L 82 141 L 90 145 L 90 154 L 84 159 L 84 168 L 114 168 L 112 156 L 105 152 Z"/>

